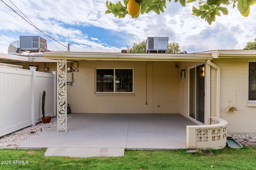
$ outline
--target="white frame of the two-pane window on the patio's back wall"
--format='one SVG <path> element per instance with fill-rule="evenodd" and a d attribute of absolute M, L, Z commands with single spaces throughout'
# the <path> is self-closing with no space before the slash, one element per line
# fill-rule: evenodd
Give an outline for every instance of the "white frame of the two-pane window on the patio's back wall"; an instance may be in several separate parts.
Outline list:
<path fill-rule="evenodd" d="M 97 92 L 97 70 L 114 70 L 114 92 Z M 116 70 L 132 70 L 132 92 L 116 92 Z M 134 94 L 134 68 L 124 68 L 124 67 L 117 67 L 117 68 L 95 68 L 95 94 Z"/>

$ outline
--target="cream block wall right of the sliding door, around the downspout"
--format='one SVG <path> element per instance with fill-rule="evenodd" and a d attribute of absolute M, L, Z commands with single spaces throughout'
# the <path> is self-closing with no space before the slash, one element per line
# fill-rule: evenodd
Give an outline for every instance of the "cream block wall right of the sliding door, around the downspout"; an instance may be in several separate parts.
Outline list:
<path fill-rule="evenodd" d="M 256 107 L 247 106 L 248 60 L 214 59 L 220 66 L 220 117 L 228 122 L 230 133 L 256 133 Z M 212 68 L 212 116 L 216 115 L 216 70 Z M 238 111 L 225 111 L 229 101 Z"/>

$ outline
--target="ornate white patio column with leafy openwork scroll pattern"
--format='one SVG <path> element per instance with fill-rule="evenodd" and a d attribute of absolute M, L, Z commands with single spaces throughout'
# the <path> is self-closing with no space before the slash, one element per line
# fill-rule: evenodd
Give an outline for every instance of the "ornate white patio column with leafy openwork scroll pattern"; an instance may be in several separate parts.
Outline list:
<path fill-rule="evenodd" d="M 57 62 L 57 132 L 67 132 L 67 60 Z"/>

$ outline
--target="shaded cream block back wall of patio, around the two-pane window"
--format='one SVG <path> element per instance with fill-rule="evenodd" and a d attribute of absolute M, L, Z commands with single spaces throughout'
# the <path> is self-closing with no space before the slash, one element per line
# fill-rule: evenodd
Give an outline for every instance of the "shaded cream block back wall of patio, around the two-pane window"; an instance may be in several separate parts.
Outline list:
<path fill-rule="evenodd" d="M 95 68 L 134 68 L 134 94 L 95 94 Z M 174 62 L 79 61 L 78 70 L 68 86 L 73 113 L 180 113 Z"/>

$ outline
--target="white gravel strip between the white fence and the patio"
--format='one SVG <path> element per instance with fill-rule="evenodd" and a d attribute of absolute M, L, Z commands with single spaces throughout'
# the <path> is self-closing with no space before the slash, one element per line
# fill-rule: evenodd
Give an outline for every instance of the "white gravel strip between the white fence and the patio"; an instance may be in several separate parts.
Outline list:
<path fill-rule="evenodd" d="M 72 116 L 67 117 L 67 119 L 70 118 L 72 118 Z M 37 137 L 38 135 L 52 129 L 55 126 L 57 126 L 57 117 L 52 117 L 50 123 L 40 122 L 37 123 L 35 126 L 25 127 L 18 131 L 0 137 L 0 145 L 9 144 L 10 148 L 16 148 L 22 143 Z"/>

